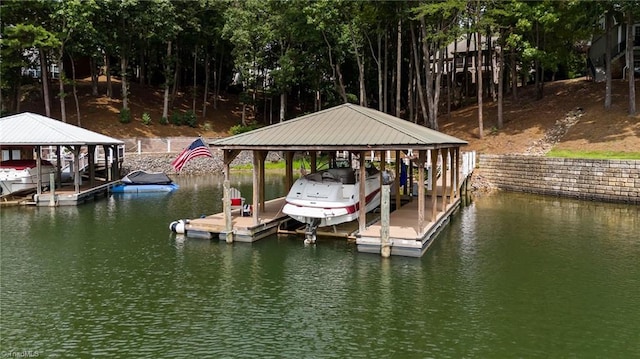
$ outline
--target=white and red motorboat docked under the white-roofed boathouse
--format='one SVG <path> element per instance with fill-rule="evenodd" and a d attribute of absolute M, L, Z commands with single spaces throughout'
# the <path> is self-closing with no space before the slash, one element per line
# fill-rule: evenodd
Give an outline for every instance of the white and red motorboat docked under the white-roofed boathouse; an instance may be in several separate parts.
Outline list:
<path fill-rule="evenodd" d="M 51 162 L 41 160 L 42 183 L 49 183 L 49 174 L 56 169 Z M 33 190 L 38 185 L 36 160 L 8 160 L 0 162 L 0 197 Z"/>

